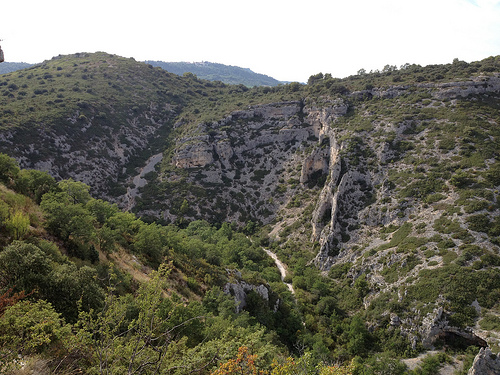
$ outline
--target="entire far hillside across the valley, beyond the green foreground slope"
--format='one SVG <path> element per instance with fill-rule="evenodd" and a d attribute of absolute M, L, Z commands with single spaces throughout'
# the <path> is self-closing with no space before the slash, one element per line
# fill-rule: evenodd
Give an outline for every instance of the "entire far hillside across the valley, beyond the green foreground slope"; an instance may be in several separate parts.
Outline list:
<path fill-rule="evenodd" d="M 254 285 L 243 310 L 273 353 L 402 374 L 399 360 L 426 350 L 440 350 L 429 366 L 457 370 L 481 347 L 499 351 L 499 57 L 247 88 L 78 54 L 0 76 L 0 92 L 0 151 L 152 223 L 158 247 L 141 225 L 114 235 L 150 267 L 164 256 L 214 267 L 183 268 L 198 295 L 186 301 Z M 73 254 L 87 261 L 121 222 L 91 214 L 97 237 Z M 61 238 L 65 251 L 75 238 Z M 260 246 L 288 268 L 294 297 Z"/>

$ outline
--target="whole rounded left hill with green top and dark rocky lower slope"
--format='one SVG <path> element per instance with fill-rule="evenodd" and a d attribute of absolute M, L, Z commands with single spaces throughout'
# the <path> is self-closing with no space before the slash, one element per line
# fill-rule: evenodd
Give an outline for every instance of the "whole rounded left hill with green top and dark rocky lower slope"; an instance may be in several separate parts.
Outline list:
<path fill-rule="evenodd" d="M 98 194 L 155 151 L 186 102 L 207 95 L 194 80 L 105 53 L 56 57 L 2 75 L 0 85 L 1 149 Z"/>

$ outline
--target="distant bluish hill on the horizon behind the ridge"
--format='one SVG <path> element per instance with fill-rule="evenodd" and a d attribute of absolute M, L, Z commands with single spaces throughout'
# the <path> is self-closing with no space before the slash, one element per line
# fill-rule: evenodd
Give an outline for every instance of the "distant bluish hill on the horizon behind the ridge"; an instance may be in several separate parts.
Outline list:
<path fill-rule="evenodd" d="M 272 77 L 259 74 L 250 69 L 240 68 L 238 66 L 217 64 L 211 62 L 164 62 L 164 61 L 145 61 L 156 67 L 165 69 L 170 73 L 183 75 L 184 73 L 193 73 L 198 78 L 209 81 L 221 81 L 230 85 L 243 84 L 245 86 L 277 86 L 280 82 Z"/>

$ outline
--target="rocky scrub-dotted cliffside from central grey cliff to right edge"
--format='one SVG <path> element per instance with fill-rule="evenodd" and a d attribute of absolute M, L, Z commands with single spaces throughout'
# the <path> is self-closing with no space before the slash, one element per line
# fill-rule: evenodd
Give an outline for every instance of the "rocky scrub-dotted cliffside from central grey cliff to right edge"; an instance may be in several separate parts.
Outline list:
<path fill-rule="evenodd" d="M 497 233 L 488 228 L 499 215 L 493 175 L 500 119 L 491 104 L 499 99 L 494 75 L 235 111 L 176 141 L 155 190 L 143 190 L 156 207 L 144 212 L 167 221 L 268 224 L 282 256 L 291 257 L 293 246 L 309 248 L 325 273 L 347 266 L 353 283 L 366 280 L 368 310 L 381 295 L 407 306 L 402 316 L 390 309 L 384 314 L 415 345 L 432 348 L 459 337 L 486 346 L 478 320 L 458 322 L 461 313 L 450 308 L 457 302 L 444 285 L 424 306 L 411 299 L 424 288 L 424 270 L 479 269 L 481 259 L 498 257 L 497 234 L 487 235 Z M 480 114 L 471 115 L 472 108 Z M 472 130 L 471 121 L 481 130 Z M 478 163 L 480 154 L 484 162 Z M 188 210 L 169 193 L 179 191 L 180 182 Z M 486 226 L 475 225 L 477 218 Z M 464 301 L 471 309 L 474 303 L 493 307 L 475 293 Z"/>

